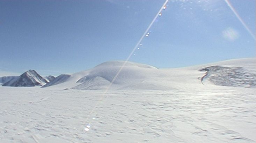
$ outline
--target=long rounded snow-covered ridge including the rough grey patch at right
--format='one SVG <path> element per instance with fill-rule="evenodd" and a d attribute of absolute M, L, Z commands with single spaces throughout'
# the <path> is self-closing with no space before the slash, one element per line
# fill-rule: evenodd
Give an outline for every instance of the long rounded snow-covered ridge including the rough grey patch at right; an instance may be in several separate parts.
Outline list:
<path fill-rule="evenodd" d="M 173 90 L 215 85 L 253 87 L 256 84 L 256 58 L 173 69 L 158 69 L 135 62 L 127 62 L 123 66 L 124 62 L 104 62 L 86 71 L 60 75 L 43 87 L 79 90 Z"/>

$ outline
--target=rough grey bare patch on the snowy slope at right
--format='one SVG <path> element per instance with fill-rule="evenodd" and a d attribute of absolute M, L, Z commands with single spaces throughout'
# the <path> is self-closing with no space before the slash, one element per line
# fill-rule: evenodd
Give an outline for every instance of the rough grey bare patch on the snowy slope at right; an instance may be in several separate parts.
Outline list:
<path fill-rule="evenodd" d="M 208 79 L 215 85 L 221 86 L 250 87 L 256 85 L 256 74 L 241 67 L 211 66 L 200 69 L 200 71 L 206 71 L 201 78 L 202 82 Z"/>

